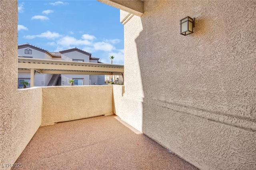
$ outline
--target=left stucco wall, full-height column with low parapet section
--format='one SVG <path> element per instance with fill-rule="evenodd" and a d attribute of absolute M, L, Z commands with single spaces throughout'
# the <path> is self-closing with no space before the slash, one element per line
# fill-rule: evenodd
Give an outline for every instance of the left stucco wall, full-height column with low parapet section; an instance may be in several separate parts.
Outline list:
<path fill-rule="evenodd" d="M 42 90 L 17 90 L 17 4 L 15 0 L 0 2 L 0 81 L 4 82 L 0 84 L 1 165 L 16 161 L 41 124 Z"/>

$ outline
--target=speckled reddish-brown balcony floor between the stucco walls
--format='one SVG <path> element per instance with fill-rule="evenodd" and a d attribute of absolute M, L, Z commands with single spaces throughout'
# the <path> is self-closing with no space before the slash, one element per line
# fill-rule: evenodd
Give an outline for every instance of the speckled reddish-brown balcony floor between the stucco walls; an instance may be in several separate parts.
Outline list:
<path fill-rule="evenodd" d="M 40 127 L 16 161 L 23 163 L 17 169 L 197 169 L 128 127 L 115 115 Z"/>

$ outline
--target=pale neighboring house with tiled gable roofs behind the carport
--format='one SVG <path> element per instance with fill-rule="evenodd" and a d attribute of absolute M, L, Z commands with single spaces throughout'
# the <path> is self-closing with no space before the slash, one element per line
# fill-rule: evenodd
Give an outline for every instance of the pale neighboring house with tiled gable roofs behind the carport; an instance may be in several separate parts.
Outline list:
<path fill-rule="evenodd" d="M 18 57 L 101 63 L 98 61 L 99 58 L 92 57 L 91 55 L 91 53 L 76 47 L 59 52 L 49 52 L 46 49 L 28 43 L 18 45 Z M 74 79 L 74 85 L 103 85 L 105 75 L 36 74 L 34 86 L 70 85 L 68 83 L 70 79 Z M 18 74 L 18 88 L 23 87 L 21 84 L 22 81 L 28 81 L 30 83 L 30 74 Z"/>

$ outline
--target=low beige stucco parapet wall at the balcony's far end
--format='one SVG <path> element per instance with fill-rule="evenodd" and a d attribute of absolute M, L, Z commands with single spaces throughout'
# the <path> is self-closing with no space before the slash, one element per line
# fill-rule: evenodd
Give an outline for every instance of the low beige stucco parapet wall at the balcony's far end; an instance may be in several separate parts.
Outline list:
<path fill-rule="evenodd" d="M 42 125 L 113 114 L 112 85 L 43 87 Z"/>

